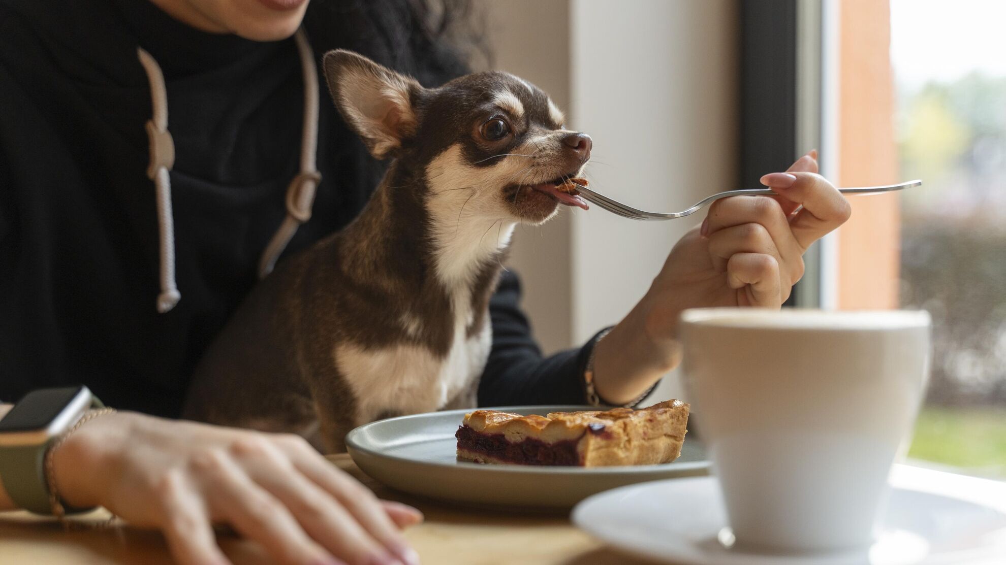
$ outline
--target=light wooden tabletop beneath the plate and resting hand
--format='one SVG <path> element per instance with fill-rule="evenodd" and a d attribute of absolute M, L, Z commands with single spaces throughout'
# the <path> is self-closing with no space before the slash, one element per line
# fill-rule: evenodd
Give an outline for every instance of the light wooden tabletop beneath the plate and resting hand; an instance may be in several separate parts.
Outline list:
<path fill-rule="evenodd" d="M 406 537 L 426 565 L 644 565 L 645 562 L 605 549 L 574 528 L 566 514 L 551 516 L 473 512 L 389 491 L 363 475 L 346 454 L 333 462 L 349 472 L 377 496 L 412 505 L 426 522 Z M 104 511 L 94 514 L 103 518 Z M 106 515 L 107 516 L 107 515 Z M 222 537 L 220 545 L 235 565 L 270 560 L 256 544 Z M 117 525 L 105 530 L 64 532 L 50 520 L 25 512 L 0 513 L 0 565 L 170 565 L 164 539 Z"/>

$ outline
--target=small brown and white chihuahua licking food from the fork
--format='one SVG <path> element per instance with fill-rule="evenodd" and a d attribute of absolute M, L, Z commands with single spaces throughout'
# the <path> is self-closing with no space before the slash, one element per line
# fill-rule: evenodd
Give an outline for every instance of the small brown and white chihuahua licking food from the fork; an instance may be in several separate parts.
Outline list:
<path fill-rule="evenodd" d="M 355 220 L 250 293 L 197 367 L 184 415 L 335 451 L 375 419 L 475 406 L 514 226 L 586 208 L 559 188 L 592 142 L 505 72 L 425 88 L 344 50 L 324 70 L 387 173 Z"/>

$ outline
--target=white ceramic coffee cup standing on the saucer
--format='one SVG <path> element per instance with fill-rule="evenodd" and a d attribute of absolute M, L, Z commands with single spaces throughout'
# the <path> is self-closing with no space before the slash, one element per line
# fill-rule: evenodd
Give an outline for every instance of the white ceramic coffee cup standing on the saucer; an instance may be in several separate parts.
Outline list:
<path fill-rule="evenodd" d="M 929 380 L 926 312 L 695 309 L 685 385 L 738 548 L 857 549 Z"/>

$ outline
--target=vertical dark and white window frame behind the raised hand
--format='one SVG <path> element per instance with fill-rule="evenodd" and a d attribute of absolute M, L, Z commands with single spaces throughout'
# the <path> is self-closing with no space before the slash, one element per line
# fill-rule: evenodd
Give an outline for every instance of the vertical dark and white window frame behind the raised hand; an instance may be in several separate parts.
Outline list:
<path fill-rule="evenodd" d="M 738 186 L 760 186 L 762 175 L 810 149 L 837 184 L 837 0 L 740 0 L 737 8 Z M 784 306 L 836 307 L 837 245 L 829 234 L 807 249 L 804 277 Z"/>

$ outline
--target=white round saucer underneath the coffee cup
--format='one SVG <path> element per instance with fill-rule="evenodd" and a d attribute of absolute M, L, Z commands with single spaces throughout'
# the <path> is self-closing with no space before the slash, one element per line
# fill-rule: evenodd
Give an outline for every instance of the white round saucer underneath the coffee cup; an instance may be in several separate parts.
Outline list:
<path fill-rule="evenodd" d="M 728 541 L 729 530 L 714 477 L 601 493 L 577 505 L 572 520 L 618 549 L 676 565 L 1006 564 L 1006 483 L 895 465 L 891 487 L 878 541 L 852 553 L 727 549 L 719 541 Z"/>

